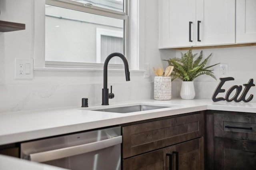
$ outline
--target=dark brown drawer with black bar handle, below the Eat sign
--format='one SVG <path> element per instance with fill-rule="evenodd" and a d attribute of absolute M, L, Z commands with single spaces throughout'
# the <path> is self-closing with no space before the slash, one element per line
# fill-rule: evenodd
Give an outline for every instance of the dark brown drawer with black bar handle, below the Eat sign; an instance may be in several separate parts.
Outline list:
<path fill-rule="evenodd" d="M 215 113 L 214 136 L 256 140 L 256 116 Z"/>

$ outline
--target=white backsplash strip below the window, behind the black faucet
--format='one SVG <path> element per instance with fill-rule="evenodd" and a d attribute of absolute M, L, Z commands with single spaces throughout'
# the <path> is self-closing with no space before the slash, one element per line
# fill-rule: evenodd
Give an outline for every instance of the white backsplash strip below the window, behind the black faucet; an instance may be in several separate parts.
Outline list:
<path fill-rule="evenodd" d="M 114 99 L 112 103 L 150 99 L 152 83 L 128 82 L 111 83 Z M 67 85 L 0 85 L 0 113 L 48 109 L 57 107 L 81 106 L 83 97 L 88 98 L 88 105 L 101 104 L 102 84 L 67 84 Z"/>

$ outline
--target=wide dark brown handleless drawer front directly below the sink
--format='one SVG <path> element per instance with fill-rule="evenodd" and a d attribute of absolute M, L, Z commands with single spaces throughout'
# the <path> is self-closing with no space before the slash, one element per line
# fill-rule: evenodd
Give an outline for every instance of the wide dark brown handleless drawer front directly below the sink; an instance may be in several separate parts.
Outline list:
<path fill-rule="evenodd" d="M 204 135 L 204 115 L 198 113 L 122 127 L 123 158 Z"/>

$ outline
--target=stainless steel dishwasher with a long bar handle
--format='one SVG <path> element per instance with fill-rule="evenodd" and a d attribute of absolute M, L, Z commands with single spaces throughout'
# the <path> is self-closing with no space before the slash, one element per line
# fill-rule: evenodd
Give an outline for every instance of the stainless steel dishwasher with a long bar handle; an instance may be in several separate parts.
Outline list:
<path fill-rule="evenodd" d="M 20 158 L 72 170 L 120 170 L 121 127 L 24 142 Z"/>

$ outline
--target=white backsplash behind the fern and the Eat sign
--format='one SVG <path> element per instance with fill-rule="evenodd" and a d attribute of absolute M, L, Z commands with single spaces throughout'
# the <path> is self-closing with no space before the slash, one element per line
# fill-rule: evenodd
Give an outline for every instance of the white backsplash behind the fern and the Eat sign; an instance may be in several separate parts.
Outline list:
<path fill-rule="evenodd" d="M 176 51 L 176 57 L 180 57 L 180 52 L 185 53 L 187 50 Z M 200 50 L 192 50 L 192 53 L 199 53 Z M 248 83 L 250 79 L 254 79 L 254 84 L 256 84 L 256 46 L 251 47 L 230 47 L 230 48 L 213 48 L 213 49 L 203 49 L 204 58 L 212 53 L 212 57 L 208 61 L 207 65 L 212 65 L 215 63 L 227 63 L 228 64 L 228 77 L 234 77 L 234 81 L 226 81 L 222 89 L 230 89 L 233 85 L 242 85 Z M 212 95 L 220 82 L 220 66 L 216 65 L 213 67 L 214 75 L 217 81 L 212 77 L 207 75 L 202 75 L 194 79 L 194 86 L 196 91 L 197 99 L 211 99 Z M 180 81 L 174 81 L 176 85 L 176 94 L 179 97 L 179 91 L 181 87 Z M 217 97 L 225 97 L 225 93 L 219 93 Z M 241 92 L 242 94 L 242 92 Z M 251 102 L 256 102 L 256 86 L 251 87 L 246 95 L 246 99 L 254 95 Z M 234 95 L 230 95 L 234 96 Z M 243 103 L 243 102 L 242 102 Z"/>

